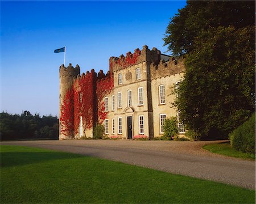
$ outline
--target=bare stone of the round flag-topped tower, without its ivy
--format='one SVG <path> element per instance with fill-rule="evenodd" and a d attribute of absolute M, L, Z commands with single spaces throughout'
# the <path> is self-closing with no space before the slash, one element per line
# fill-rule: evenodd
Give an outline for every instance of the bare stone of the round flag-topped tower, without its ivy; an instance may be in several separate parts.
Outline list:
<path fill-rule="evenodd" d="M 73 88 L 73 80 L 77 77 L 77 75 L 80 75 L 80 67 L 79 65 L 76 65 L 74 68 L 71 63 L 69 63 L 68 67 L 65 67 L 64 65 L 60 66 L 60 104 L 59 104 L 59 115 L 61 117 L 61 105 L 63 104 L 63 100 L 65 98 L 65 95 L 67 91 L 71 88 Z M 61 121 L 59 122 L 59 139 L 71 139 L 74 137 L 73 131 L 69 131 L 67 134 L 63 134 L 63 124 L 61 124 Z"/>

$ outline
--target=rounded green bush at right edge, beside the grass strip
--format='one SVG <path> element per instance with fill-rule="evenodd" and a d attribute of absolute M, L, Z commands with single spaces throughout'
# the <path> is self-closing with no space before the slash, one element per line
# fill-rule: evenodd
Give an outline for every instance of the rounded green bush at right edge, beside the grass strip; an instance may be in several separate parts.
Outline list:
<path fill-rule="evenodd" d="M 255 155 L 255 113 L 230 133 L 229 139 L 234 149 Z"/>

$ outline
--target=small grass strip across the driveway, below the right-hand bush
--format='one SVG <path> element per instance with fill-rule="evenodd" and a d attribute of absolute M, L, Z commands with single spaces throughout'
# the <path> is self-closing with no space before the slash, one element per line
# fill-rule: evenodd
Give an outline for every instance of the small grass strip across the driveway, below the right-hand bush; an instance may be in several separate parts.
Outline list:
<path fill-rule="evenodd" d="M 237 150 L 234 150 L 229 142 L 222 142 L 218 144 L 211 144 L 211 145 L 205 145 L 203 146 L 205 150 L 208 150 L 210 152 L 226 155 L 226 156 L 233 156 L 236 158 L 242 158 L 242 159 L 255 159 L 255 155 L 243 153 Z"/>

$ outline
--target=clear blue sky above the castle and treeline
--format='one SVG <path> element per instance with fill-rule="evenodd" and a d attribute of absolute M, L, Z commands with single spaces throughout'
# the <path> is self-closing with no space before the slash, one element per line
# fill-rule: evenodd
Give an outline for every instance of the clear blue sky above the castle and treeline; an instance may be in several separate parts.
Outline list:
<path fill-rule="evenodd" d="M 109 57 L 158 48 L 185 1 L 1 1 L 1 111 L 59 116 L 59 66 L 108 71 Z M 170 53 L 167 53 L 170 54 Z"/>

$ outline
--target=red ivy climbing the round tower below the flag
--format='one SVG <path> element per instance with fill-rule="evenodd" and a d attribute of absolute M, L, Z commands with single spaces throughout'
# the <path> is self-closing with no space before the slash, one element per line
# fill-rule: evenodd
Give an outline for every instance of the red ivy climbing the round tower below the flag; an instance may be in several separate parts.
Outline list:
<path fill-rule="evenodd" d="M 74 91 L 71 88 L 64 96 L 63 104 L 61 105 L 60 121 L 61 134 L 68 136 L 74 129 Z"/>

